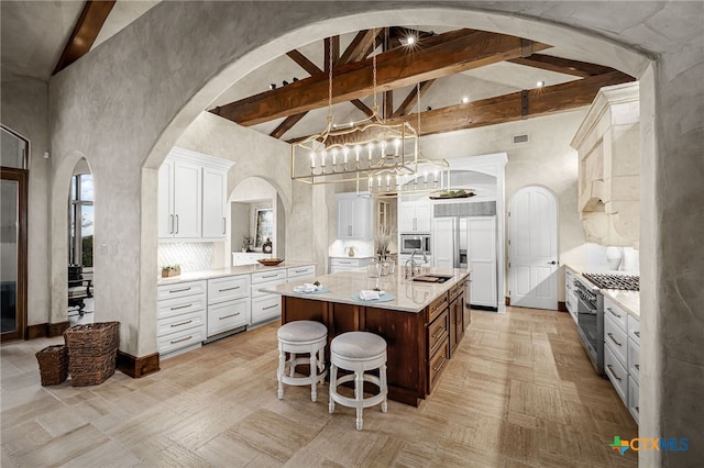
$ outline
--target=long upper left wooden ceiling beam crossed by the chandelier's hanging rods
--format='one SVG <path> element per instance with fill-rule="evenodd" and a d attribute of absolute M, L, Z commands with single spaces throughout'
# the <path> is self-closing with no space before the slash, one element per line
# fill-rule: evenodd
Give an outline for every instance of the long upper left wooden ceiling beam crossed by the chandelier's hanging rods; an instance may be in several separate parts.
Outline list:
<path fill-rule="evenodd" d="M 532 49 L 550 47 L 534 43 Z M 521 57 L 520 37 L 484 31 L 451 31 L 424 40 L 409 54 L 396 48 L 377 56 L 377 91 L 441 78 L 472 68 Z M 362 99 L 373 92 L 372 59 L 337 67 L 332 102 Z M 328 104 L 328 77 L 318 74 L 286 87 L 222 105 L 220 115 L 250 126 Z"/>

